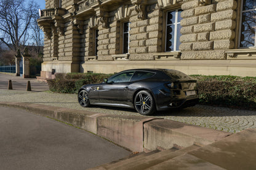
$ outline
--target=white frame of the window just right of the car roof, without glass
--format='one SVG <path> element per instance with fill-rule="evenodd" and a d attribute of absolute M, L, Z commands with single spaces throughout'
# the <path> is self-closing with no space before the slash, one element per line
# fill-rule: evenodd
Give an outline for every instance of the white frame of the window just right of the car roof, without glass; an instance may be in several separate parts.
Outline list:
<path fill-rule="evenodd" d="M 177 31 L 178 31 L 178 25 L 180 25 L 180 21 L 178 22 L 178 12 L 179 10 L 182 10 L 180 7 L 176 9 L 168 9 L 166 10 L 165 14 L 165 26 L 164 26 L 164 52 L 180 52 L 180 50 L 177 47 Z M 169 12 L 175 11 L 175 22 L 172 24 L 167 24 L 167 15 Z M 167 26 L 174 25 L 174 50 L 167 51 Z M 181 27 L 180 27 L 181 28 Z"/>

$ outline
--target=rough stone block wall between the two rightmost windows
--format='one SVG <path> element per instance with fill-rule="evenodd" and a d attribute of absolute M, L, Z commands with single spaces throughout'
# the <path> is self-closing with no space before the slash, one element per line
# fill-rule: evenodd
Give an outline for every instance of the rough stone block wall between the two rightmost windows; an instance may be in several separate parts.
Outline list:
<path fill-rule="evenodd" d="M 225 59 L 225 50 L 234 48 L 237 2 L 202 2 L 183 1 L 181 60 Z"/>

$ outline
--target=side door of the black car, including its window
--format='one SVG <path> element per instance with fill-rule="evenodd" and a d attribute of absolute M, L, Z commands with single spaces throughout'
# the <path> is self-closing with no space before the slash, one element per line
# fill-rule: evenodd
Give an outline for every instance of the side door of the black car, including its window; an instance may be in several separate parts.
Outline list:
<path fill-rule="evenodd" d="M 108 82 L 97 87 L 100 102 L 124 104 L 127 100 L 127 87 L 134 71 L 121 72 L 108 79 Z"/>

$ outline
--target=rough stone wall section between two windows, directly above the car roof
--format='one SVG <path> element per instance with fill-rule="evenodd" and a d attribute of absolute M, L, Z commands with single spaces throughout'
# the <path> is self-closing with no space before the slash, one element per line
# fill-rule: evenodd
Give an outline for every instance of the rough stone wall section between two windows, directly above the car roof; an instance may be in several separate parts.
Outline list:
<path fill-rule="evenodd" d="M 145 20 L 137 14 L 130 17 L 130 60 L 154 60 L 153 53 L 161 52 L 162 12 L 157 4 L 148 6 Z"/>

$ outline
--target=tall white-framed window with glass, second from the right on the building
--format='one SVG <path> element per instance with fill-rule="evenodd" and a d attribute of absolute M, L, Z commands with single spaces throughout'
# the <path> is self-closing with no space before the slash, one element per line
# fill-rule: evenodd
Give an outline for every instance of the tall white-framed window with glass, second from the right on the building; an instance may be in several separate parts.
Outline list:
<path fill-rule="evenodd" d="M 166 16 L 166 52 L 178 51 L 180 46 L 181 9 L 168 11 Z"/>

